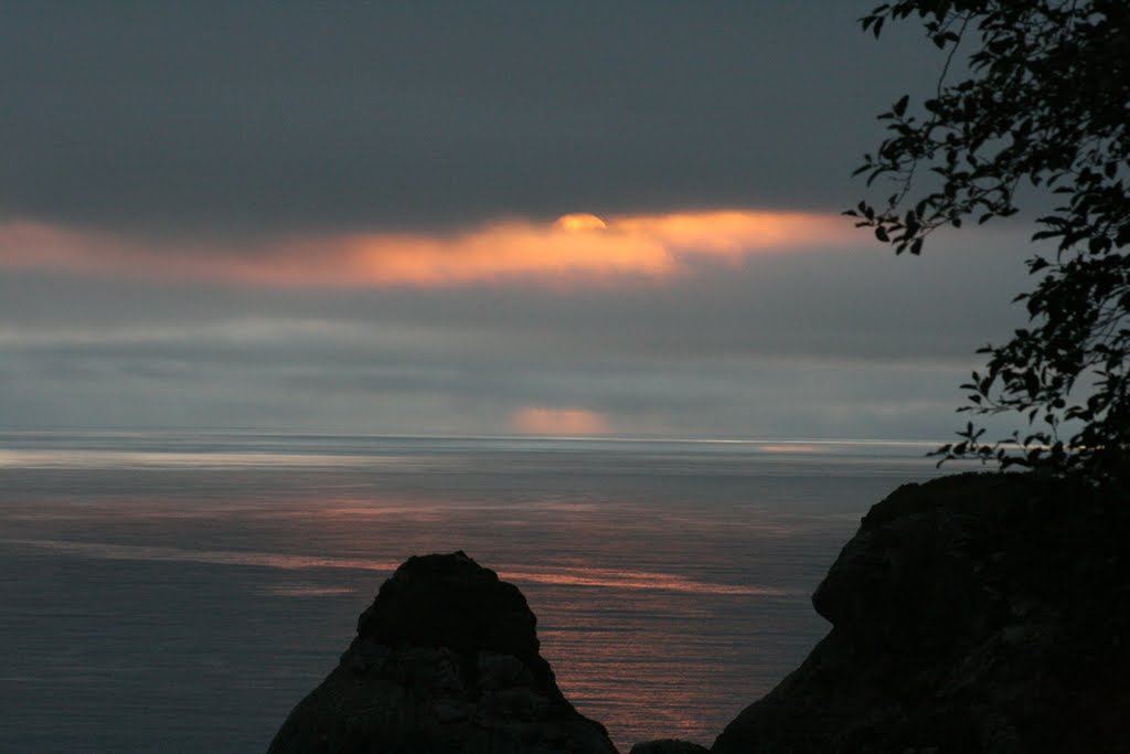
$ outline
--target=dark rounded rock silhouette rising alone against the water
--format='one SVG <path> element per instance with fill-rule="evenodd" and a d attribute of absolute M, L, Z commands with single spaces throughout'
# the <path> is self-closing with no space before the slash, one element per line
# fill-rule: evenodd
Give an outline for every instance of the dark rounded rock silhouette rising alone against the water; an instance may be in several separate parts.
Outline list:
<path fill-rule="evenodd" d="M 615 753 L 557 687 L 536 624 L 518 588 L 464 553 L 411 557 L 268 752 Z"/>

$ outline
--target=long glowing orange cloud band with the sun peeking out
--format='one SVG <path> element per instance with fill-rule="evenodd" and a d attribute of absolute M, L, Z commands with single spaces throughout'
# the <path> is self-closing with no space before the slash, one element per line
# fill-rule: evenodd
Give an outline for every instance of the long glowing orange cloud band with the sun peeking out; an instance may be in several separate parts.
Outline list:
<path fill-rule="evenodd" d="M 667 279 L 696 261 L 858 243 L 837 215 L 688 211 L 555 223 L 506 222 L 454 234 L 346 233 L 259 242 L 142 241 L 51 225 L 0 224 L 0 268 L 232 281 L 268 287 L 457 287 Z"/>

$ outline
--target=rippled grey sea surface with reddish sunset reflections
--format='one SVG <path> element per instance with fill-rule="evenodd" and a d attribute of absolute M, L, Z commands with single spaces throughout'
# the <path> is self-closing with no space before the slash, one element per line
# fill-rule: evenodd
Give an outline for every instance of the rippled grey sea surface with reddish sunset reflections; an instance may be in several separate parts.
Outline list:
<path fill-rule="evenodd" d="M 395 566 L 454 549 L 623 751 L 709 746 L 827 632 L 812 590 L 929 449 L 0 433 L 0 752 L 263 751 Z"/>

